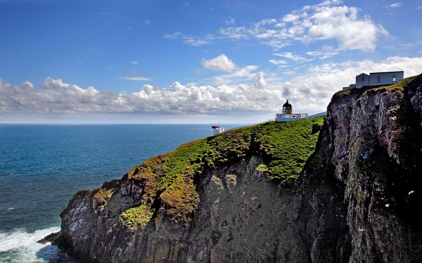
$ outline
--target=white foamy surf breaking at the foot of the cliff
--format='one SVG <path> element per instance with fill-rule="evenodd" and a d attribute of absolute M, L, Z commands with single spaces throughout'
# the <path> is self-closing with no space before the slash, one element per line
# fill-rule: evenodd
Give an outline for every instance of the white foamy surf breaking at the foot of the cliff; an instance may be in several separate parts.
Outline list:
<path fill-rule="evenodd" d="M 70 262 L 56 245 L 37 243 L 44 236 L 59 230 L 59 227 L 51 227 L 34 233 L 27 233 L 25 229 L 0 232 L 0 262 Z"/>

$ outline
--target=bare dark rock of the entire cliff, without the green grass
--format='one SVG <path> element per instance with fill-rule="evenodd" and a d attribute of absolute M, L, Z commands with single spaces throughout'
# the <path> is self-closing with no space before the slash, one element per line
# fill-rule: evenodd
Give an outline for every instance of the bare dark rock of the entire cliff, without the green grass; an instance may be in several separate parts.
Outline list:
<path fill-rule="evenodd" d="M 146 191 L 127 176 L 79 191 L 56 243 L 84 262 L 422 262 L 421 100 L 422 76 L 334 95 L 295 184 L 270 182 L 250 147 L 205 168 L 188 224 L 153 204 L 145 227 L 124 227 Z"/>

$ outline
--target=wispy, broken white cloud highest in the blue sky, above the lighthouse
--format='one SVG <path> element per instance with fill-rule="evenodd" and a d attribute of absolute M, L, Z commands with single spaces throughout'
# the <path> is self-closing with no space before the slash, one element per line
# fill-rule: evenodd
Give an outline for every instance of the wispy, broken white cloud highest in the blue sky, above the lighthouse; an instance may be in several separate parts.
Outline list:
<path fill-rule="evenodd" d="M 398 7 L 401 3 L 392 4 Z M 292 41 L 336 41 L 339 50 L 376 48 L 378 36 L 388 34 L 369 16 L 359 18 L 358 8 L 341 5 L 341 1 L 324 1 L 304 6 L 276 20 L 269 18 L 249 27 L 220 28 L 219 34 L 229 39 L 260 39 L 261 43 L 280 49 Z"/>

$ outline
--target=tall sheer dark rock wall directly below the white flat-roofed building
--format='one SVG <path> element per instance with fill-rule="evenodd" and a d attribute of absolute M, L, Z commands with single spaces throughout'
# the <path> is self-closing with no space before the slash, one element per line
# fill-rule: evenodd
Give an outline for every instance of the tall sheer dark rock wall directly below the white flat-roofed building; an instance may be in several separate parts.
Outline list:
<path fill-rule="evenodd" d="M 421 79 L 367 90 L 348 116 L 327 116 L 331 163 L 345 184 L 350 262 L 422 260 Z"/>

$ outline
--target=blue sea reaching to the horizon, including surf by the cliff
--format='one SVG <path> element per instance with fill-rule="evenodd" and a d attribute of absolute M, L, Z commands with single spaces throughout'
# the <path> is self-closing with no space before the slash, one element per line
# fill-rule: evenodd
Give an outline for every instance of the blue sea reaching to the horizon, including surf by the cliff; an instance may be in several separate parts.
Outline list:
<path fill-rule="evenodd" d="M 205 124 L 0 124 L 0 262 L 72 262 L 37 241 L 60 230 L 60 212 L 78 190 L 211 135 Z"/>

